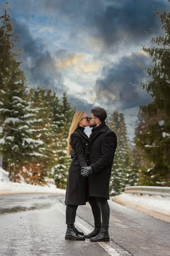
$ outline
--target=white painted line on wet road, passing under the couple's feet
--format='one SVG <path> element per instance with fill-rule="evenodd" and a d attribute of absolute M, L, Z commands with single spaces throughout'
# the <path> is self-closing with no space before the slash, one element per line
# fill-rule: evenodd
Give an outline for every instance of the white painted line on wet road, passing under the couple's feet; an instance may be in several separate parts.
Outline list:
<path fill-rule="evenodd" d="M 61 208 L 62 203 L 60 203 L 57 207 L 57 209 L 63 213 L 63 215 L 65 215 L 65 211 Z M 78 216 L 76 217 L 77 219 L 79 219 L 79 221 L 76 221 L 77 226 L 79 226 L 85 233 L 90 233 L 91 230 L 89 230 L 87 227 L 85 227 L 82 223 L 80 223 L 81 218 L 79 218 Z M 88 224 L 88 226 L 90 226 Z M 109 253 L 111 256 L 121 256 L 118 252 L 116 252 L 116 250 L 114 250 L 110 245 L 108 245 L 106 242 L 97 242 L 103 249 L 105 249 L 107 251 L 107 253 Z"/>

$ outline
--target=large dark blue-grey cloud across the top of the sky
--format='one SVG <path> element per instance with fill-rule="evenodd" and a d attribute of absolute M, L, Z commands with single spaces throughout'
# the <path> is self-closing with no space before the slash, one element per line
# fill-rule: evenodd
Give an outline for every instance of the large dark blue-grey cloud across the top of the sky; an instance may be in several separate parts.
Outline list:
<path fill-rule="evenodd" d="M 42 0 L 45 12 L 61 15 L 71 24 L 72 38 L 83 31 L 104 41 L 104 49 L 141 46 L 157 34 L 154 9 L 167 9 L 162 0 Z"/>

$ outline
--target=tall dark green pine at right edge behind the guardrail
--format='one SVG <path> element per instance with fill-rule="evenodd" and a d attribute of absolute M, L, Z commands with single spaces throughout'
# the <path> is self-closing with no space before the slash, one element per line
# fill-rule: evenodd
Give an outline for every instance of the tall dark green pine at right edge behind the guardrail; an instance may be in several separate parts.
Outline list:
<path fill-rule="evenodd" d="M 169 1 L 170 2 L 170 1 Z M 152 38 L 156 47 L 143 47 L 154 67 L 146 67 L 152 78 L 142 84 L 152 102 L 140 107 L 143 125 L 136 129 L 136 145 L 144 152 L 149 169 L 143 169 L 139 181 L 150 186 L 170 185 L 170 12 L 160 14 L 163 34 Z"/>

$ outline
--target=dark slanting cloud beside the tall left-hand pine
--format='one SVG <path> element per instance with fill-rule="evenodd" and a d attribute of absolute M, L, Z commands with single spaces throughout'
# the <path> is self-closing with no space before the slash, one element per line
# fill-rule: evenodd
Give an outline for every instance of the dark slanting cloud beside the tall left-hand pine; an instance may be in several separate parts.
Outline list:
<path fill-rule="evenodd" d="M 21 40 L 19 46 L 25 53 L 23 69 L 28 81 L 33 85 L 51 88 L 57 92 L 65 90 L 62 75 L 56 67 L 56 61 L 42 40 L 33 38 L 25 23 L 16 23 L 16 27 L 16 33 L 20 35 L 17 38 Z"/>

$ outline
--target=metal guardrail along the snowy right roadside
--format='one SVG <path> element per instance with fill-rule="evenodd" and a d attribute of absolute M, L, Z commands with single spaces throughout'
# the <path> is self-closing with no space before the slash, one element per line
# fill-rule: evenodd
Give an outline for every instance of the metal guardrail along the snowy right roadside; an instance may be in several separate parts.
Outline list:
<path fill-rule="evenodd" d="M 161 195 L 170 197 L 170 187 L 162 186 L 129 186 L 125 187 L 125 193 L 140 195 Z"/>

